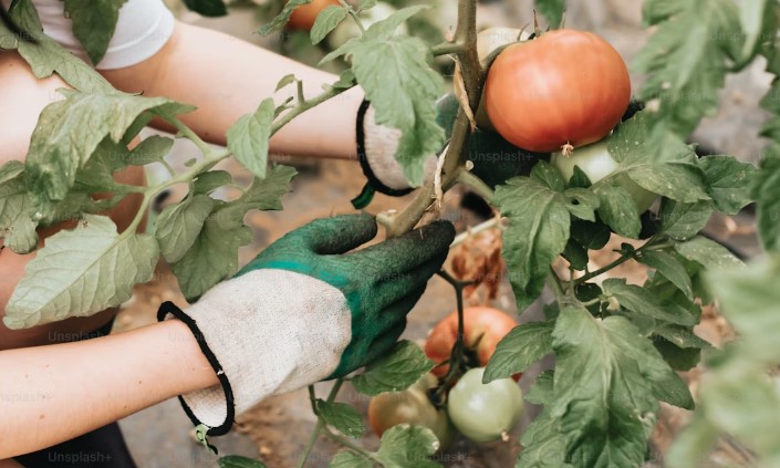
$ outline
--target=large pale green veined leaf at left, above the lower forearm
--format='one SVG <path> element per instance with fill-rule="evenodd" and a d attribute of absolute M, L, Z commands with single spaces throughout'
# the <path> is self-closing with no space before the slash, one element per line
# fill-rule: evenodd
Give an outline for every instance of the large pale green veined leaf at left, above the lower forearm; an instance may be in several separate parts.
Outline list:
<path fill-rule="evenodd" d="M 148 235 L 116 232 L 107 217 L 84 216 L 84 223 L 60 231 L 28 263 L 6 308 L 12 330 L 90 316 L 117 306 L 133 287 L 152 279 L 159 251 Z"/>

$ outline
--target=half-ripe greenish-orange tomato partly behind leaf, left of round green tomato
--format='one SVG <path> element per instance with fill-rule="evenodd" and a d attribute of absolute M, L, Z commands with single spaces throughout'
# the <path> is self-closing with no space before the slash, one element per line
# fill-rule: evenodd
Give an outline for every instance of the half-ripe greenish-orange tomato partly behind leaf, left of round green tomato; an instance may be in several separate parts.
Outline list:
<path fill-rule="evenodd" d="M 455 439 L 455 428 L 445 409 L 436 409 L 428 389 L 434 388 L 438 379 L 433 374 L 425 374 L 416 384 L 403 392 L 379 394 L 368 403 L 368 424 L 378 437 L 393 426 L 410 424 L 427 427 L 439 439 L 439 451 L 446 450 Z"/>

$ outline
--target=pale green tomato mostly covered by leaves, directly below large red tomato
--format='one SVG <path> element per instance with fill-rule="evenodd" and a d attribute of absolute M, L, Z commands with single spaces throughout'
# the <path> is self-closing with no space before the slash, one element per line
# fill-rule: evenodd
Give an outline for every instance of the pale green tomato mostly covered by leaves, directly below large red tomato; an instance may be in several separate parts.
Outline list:
<path fill-rule="evenodd" d="M 550 163 L 561 171 L 566 180 L 574 175 L 574 166 L 579 167 L 585 173 L 591 184 L 611 176 L 618 167 L 617 162 L 610 155 L 605 141 L 579 147 L 574 149 L 574 154 L 571 156 L 564 156 L 561 152 L 553 153 Z M 656 194 L 639 187 L 625 174 L 615 176 L 615 183 L 631 194 L 639 212 L 647 211 L 647 208 L 658 197 Z"/>

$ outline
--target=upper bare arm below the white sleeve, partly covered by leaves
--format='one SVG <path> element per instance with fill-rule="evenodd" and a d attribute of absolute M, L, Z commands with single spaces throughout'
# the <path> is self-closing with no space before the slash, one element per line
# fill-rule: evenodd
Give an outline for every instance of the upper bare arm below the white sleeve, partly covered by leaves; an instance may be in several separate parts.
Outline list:
<path fill-rule="evenodd" d="M 101 73 L 122 91 L 197 105 L 181 119 L 204 139 L 220 145 L 230 125 L 274 95 L 282 76 L 294 73 L 306 96 L 337 80 L 249 42 L 185 23 L 176 24 L 174 35 L 152 58 Z M 294 86 L 288 86 L 277 94 L 277 102 L 293 93 Z M 362 101 L 363 91 L 354 89 L 304 113 L 271 138 L 271 152 L 354 158 L 355 116 Z"/>

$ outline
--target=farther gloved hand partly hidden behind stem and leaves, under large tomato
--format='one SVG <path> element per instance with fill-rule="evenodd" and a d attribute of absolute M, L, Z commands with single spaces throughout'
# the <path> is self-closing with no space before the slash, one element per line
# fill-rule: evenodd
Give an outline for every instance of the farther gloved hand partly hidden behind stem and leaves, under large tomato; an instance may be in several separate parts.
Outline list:
<path fill-rule="evenodd" d="M 445 129 L 447 141 L 453 133 L 459 103 L 454 94 L 445 95 L 437 103 L 436 121 Z M 374 110 L 367 101 L 357 112 L 356 135 L 357 156 L 368 183 L 363 194 L 353 200 L 355 208 L 366 206 L 374 191 L 391 196 L 412 191 L 401 164 L 395 159 L 401 131 L 377 125 Z M 468 159 L 474 163 L 472 173 L 490 187 L 516 176 L 527 176 L 539 159 L 549 159 L 549 155 L 518 148 L 498 133 L 479 128 L 471 134 L 466 150 Z M 436 169 L 436 159 L 437 155 L 431 155 L 426 162 L 426 178 Z"/>

